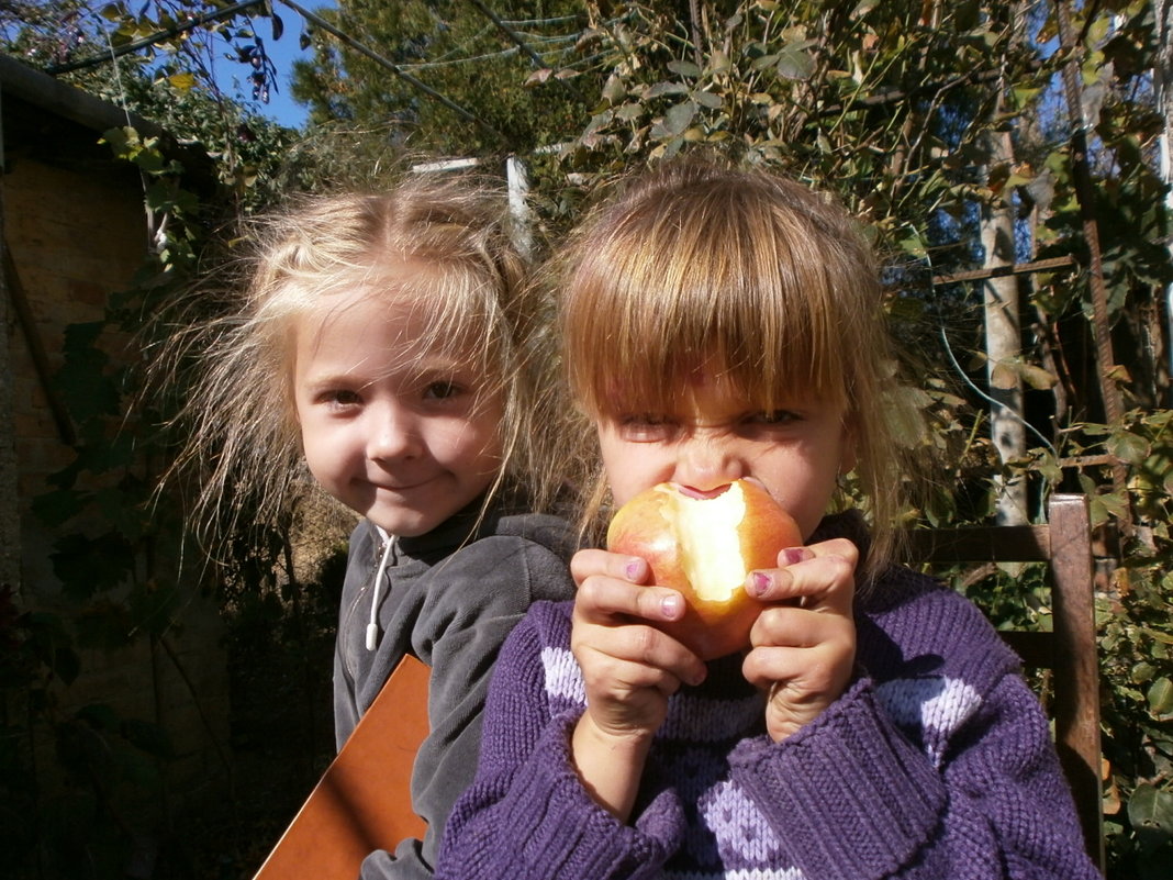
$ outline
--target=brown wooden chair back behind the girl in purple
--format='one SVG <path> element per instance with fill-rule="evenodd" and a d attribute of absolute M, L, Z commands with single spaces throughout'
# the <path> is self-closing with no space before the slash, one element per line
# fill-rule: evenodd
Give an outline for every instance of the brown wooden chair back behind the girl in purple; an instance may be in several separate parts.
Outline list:
<path fill-rule="evenodd" d="M 1052 670 L 1050 712 L 1056 749 L 1074 796 L 1087 852 L 1104 872 L 1100 785 L 1099 663 L 1096 638 L 1096 556 L 1087 499 L 1055 495 L 1045 526 L 910 529 L 909 559 L 931 567 L 1045 562 L 1052 631 L 1001 635 L 1028 669 Z M 1103 547 L 1101 556 L 1107 555 Z"/>

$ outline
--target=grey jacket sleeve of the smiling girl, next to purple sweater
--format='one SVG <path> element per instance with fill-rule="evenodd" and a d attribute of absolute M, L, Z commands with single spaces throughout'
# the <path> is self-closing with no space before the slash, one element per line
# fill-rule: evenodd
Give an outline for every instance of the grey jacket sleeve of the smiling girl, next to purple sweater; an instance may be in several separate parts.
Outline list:
<path fill-rule="evenodd" d="M 426 823 L 423 840 L 362 862 L 364 880 L 427 880 L 456 797 L 472 783 L 481 742 L 489 673 L 506 636 L 537 598 L 574 589 L 565 562 L 515 536 L 476 541 L 427 574 L 427 598 L 413 650 L 432 668 L 429 733 L 412 771 L 412 804 Z"/>

